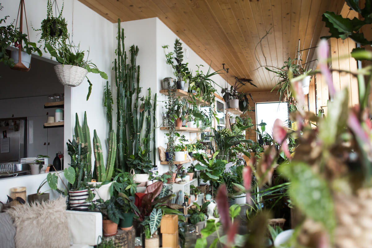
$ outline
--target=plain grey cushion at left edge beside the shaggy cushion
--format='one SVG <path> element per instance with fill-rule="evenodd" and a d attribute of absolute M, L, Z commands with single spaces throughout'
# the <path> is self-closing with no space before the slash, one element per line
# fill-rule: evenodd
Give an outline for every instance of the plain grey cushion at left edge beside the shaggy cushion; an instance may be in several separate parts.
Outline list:
<path fill-rule="evenodd" d="M 16 236 L 16 228 L 13 226 L 13 221 L 7 213 L 0 213 L 0 247 L 14 248 L 14 237 Z"/>

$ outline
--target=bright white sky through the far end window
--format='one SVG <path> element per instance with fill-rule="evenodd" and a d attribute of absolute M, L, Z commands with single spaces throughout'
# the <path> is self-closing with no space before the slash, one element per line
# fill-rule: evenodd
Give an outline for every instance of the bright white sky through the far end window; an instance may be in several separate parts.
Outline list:
<path fill-rule="evenodd" d="M 265 132 L 273 136 L 273 125 L 276 119 L 288 123 L 288 105 L 287 103 L 257 103 L 256 104 L 257 124 L 266 123 Z"/>

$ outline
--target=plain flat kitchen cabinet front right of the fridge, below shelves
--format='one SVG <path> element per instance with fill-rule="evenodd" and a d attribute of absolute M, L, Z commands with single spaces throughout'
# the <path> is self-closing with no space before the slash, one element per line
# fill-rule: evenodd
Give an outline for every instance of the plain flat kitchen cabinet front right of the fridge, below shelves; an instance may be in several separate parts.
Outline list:
<path fill-rule="evenodd" d="M 28 118 L 28 157 L 48 155 L 51 159 L 59 151 L 63 151 L 63 127 L 45 129 L 47 116 L 32 116 Z M 50 162 L 49 162 L 50 163 Z"/>

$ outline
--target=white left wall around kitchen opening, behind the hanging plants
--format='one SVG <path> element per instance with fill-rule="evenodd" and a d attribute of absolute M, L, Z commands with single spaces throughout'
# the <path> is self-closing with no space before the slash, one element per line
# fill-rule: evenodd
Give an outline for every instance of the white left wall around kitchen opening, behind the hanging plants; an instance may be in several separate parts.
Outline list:
<path fill-rule="evenodd" d="M 57 0 L 57 2 L 58 6 L 61 8 L 63 1 Z M 19 1 L 5 0 L 1 1 L 1 3 L 4 9 L 0 12 L 0 16 L 9 15 L 9 22 L 16 19 Z M 25 7 L 29 25 L 29 38 L 31 41 L 37 42 L 39 40 L 38 33 L 31 28 L 31 25 L 35 29 L 40 27 L 41 21 L 47 15 L 47 1 L 25 1 Z M 89 60 L 92 60 L 101 71 L 105 71 L 108 74 L 109 82 L 113 81 L 114 77 L 111 68 L 114 59 L 114 41 L 116 37 L 113 23 L 77 0 L 64 1 L 63 16 L 67 21 L 67 29 L 71 38 L 73 38 L 74 44 L 78 45 L 80 42 L 81 50 L 87 51 L 87 49 L 89 49 Z M 23 30 L 26 32 L 26 29 Z M 49 55 L 43 52 L 43 57 L 49 58 Z M 104 85 L 106 85 L 106 80 L 103 80 L 98 74 L 89 73 L 87 76 L 93 84 L 92 94 L 88 101 L 86 101 L 89 86 L 87 80 L 84 80 L 80 86 L 74 88 L 65 87 L 65 142 L 67 142 L 68 139 L 72 139 L 75 126 L 75 113 L 78 113 L 80 122 L 82 122 L 84 111 L 87 111 L 91 138 L 93 139 L 94 129 L 97 129 L 97 134 L 102 143 L 104 143 L 108 137 L 106 110 L 103 106 L 103 90 Z M 43 77 L 43 75 L 40 75 L 40 77 Z M 107 157 L 107 148 L 105 146 L 103 146 L 103 155 L 105 158 Z M 92 162 L 94 163 L 94 156 L 92 156 Z M 67 146 L 64 145 L 64 165 L 68 166 L 68 163 L 70 163 L 70 157 L 67 154 Z M 20 179 L 12 178 L 9 180 L 18 181 Z M 22 184 L 22 186 L 38 184 L 39 181 L 40 180 L 35 180 L 33 182 L 32 179 L 30 179 L 27 181 L 29 185 Z M 0 195 L 3 196 L 4 194 L 8 194 L 9 188 L 10 184 L 9 186 L 1 187 Z"/>

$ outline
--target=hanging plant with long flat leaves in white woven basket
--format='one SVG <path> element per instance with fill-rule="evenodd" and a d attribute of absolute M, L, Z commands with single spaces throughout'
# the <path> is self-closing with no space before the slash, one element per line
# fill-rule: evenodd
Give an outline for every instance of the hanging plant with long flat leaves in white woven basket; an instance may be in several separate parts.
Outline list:
<path fill-rule="evenodd" d="M 84 51 L 80 51 L 80 44 L 78 46 L 71 45 L 70 40 L 68 44 L 62 44 L 61 48 L 55 49 L 50 44 L 45 44 L 50 55 L 54 57 L 61 65 L 56 65 L 54 71 L 57 74 L 58 81 L 64 86 L 75 87 L 81 84 L 87 73 L 99 73 L 103 79 L 107 79 L 107 74 L 98 70 L 97 66 L 90 60 L 84 60 Z M 58 51 L 58 53 L 57 53 Z M 88 51 L 89 57 L 89 51 Z M 92 91 L 92 83 L 87 77 L 89 88 L 87 100 Z"/>

